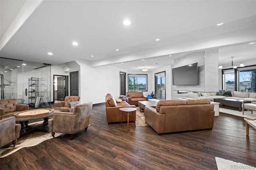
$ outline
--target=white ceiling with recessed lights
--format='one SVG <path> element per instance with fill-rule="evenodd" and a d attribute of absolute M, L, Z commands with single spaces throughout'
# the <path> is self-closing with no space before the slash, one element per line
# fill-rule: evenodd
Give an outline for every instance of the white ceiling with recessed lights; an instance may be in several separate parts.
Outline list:
<path fill-rule="evenodd" d="M 0 38 L 0 57 L 52 65 L 155 69 L 210 48 L 256 64 L 256 0 L 0 0 Z"/>

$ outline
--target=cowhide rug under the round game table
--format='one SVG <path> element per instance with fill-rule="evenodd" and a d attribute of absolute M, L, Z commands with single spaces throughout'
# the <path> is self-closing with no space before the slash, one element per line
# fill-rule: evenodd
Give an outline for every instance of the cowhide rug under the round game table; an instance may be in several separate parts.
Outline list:
<path fill-rule="evenodd" d="M 43 121 L 40 122 L 35 122 L 35 123 L 29 123 L 29 126 L 35 126 L 38 124 L 42 124 Z M 62 136 L 64 135 L 63 133 L 55 133 L 55 137 Z M 37 144 L 40 144 L 44 140 L 51 139 L 52 134 L 51 132 L 32 132 L 26 136 L 22 136 L 21 138 L 18 138 L 18 142 L 13 147 L 12 142 L 7 144 L 6 146 L 0 148 L 0 158 L 3 158 L 5 156 L 8 156 L 17 150 L 20 150 L 21 148 L 24 147 L 30 147 L 30 146 L 36 146 Z"/>

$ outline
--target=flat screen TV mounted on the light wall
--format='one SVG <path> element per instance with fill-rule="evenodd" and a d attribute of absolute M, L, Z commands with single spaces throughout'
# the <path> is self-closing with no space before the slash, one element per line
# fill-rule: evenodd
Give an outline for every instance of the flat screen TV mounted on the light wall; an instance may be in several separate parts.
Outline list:
<path fill-rule="evenodd" d="M 172 85 L 198 85 L 198 63 L 173 68 Z"/>

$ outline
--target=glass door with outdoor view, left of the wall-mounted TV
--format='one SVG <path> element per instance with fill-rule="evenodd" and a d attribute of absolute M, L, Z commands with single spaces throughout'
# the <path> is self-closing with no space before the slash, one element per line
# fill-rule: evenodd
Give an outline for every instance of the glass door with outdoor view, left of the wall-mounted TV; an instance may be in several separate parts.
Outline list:
<path fill-rule="evenodd" d="M 155 74 L 155 96 L 156 99 L 165 100 L 165 88 L 166 88 L 166 81 L 165 81 L 165 71 L 161 73 Z"/>

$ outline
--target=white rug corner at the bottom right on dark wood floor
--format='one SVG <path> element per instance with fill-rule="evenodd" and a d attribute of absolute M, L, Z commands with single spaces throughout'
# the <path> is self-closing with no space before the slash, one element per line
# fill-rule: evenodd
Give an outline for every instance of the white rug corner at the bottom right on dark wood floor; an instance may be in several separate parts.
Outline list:
<path fill-rule="evenodd" d="M 246 165 L 232 160 L 215 157 L 218 170 L 255 170 L 253 165 Z"/>

